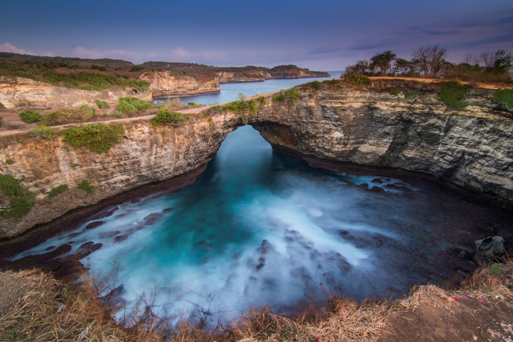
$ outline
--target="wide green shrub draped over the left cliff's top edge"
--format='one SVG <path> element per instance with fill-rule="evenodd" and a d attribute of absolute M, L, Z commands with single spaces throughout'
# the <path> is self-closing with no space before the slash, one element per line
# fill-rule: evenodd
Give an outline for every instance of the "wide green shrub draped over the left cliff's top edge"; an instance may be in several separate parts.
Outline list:
<path fill-rule="evenodd" d="M 63 141 L 73 147 L 86 147 L 91 152 L 108 151 L 113 144 L 119 142 L 125 128 L 119 124 L 105 125 L 102 123 L 68 128 L 61 134 Z"/>

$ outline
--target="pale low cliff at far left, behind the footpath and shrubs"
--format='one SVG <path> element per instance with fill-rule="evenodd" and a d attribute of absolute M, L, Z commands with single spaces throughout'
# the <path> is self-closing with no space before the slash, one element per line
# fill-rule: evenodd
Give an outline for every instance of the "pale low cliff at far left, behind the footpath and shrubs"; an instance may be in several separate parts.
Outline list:
<path fill-rule="evenodd" d="M 116 103 L 120 97 L 125 96 L 151 100 L 151 93 L 137 92 L 130 88 L 112 88 L 101 91 L 69 89 L 29 78 L 0 76 L 0 102 L 6 108 L 14 108 L 23 104 L 35 107 L 75 107 L 82 104 L 94 105 L 95 99 Z"/>

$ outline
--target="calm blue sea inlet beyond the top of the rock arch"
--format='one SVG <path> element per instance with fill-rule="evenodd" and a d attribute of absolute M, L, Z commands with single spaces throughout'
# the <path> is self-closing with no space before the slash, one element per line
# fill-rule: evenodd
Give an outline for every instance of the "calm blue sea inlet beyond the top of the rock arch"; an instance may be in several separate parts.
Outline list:
<path fill-rule="evenodd" d="M 265 94 L 280 89 L 287 89 L 303 83 L 318 81 L 326 81 L 327 79 L 340 78 L 342 71 L 328 71 L 330 77 L 312 77 L 312 78 L 296 78 L 296 79 L 267 79 L 264 82 L 238 82 L 238 83 L 222 83 L 221 92 L 203 95 L 182 96 L 180 99 L 184 104 L 194 102 L 202 105 L 212 105 L 215 103 L 226 103 L 237 99 L 239 93 L 246 96 Z M 155 98 L 155 103 L 165 102 L 169 97 Z"/>

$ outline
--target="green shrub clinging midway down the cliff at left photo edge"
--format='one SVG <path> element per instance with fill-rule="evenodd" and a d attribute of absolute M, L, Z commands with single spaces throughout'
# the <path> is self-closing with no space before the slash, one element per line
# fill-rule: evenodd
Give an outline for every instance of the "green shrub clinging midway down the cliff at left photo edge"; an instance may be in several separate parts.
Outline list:
<path fill-rule="evenodd" d="M 9 200 L 9 209 L 0 210 L 2 218 L 22 218 L 34 205 L 34 196 L 9 174 L 0 175 L 0 192 Z"/>

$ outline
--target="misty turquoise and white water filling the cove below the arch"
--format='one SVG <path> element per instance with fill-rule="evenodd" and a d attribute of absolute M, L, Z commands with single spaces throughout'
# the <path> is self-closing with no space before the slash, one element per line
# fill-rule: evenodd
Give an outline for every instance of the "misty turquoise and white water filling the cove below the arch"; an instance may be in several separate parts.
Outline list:
<path fill-rule="evenodd" d="M 484 217 L 413 183 L 311 169 L 245 126 L 194 184 L 121 204 L 103 224 L 88 229 L 91 220 L 16 258 L 101 243 L 81 260 L 93 278 L 123 284 L 129 310 L 144 298 L 170 319 L 216 323 L 265 304 L 287 313 L 324 303 L 328 291 L 397 297 L 440 284 L 453 271 L 438 270 L 440 258 L 458 247 L 451 230 Z"/>

